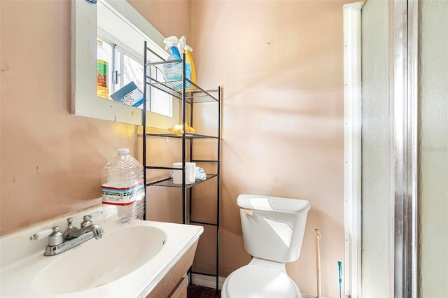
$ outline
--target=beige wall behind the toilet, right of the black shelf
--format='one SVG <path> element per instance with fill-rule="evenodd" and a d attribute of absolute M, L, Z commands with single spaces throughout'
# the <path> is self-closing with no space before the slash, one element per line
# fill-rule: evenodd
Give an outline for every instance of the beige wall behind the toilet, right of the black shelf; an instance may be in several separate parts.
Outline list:
<path fill-rule="evenodd" d="M 343 260 L 343 1 L 190 1 L 198 82 L 223 86 L 221 276 L 246 264 L 239 193 L 309 199 L 302 254 L 288 264 L 316 294 L 339 295 Z"/>

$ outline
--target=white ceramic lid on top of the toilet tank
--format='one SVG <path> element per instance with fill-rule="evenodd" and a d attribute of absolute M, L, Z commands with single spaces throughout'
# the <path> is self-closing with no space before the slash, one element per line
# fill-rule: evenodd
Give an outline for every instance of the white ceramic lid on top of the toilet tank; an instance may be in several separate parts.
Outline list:
<path fill-rule="evenodd" d="M 259 194 L 239 194 L 237 204 L 240 208 L 288 213 L 306 213 L 311 208 L 305 199 L 271 197 Z"/>

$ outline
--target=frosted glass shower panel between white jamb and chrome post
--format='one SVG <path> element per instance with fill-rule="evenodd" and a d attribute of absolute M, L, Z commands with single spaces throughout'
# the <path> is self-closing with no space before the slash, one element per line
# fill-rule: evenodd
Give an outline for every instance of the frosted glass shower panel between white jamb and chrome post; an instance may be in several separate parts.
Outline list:
<path fill-rule="evenodd" d="M 361 204 L 363 297 L 389 297 L 391 101 L 388 1 L 361 9 Z"/>

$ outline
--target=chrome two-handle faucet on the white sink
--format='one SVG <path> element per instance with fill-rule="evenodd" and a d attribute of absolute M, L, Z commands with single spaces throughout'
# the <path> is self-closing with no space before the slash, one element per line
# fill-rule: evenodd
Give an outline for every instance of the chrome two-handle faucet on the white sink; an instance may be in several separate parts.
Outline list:
<path fill-rule="evenodd" d="M 64 233 L 60 232 L 60 227 L 56 226 L 34 234 L 29 239 L 38 240 L 43 236 L 48 236 L 48 246 L 43 255 L 59 255 L 75 246 L 84 243 L 92 238 L 101 239 L 104 235 L 102 227 L 92 222 L 92 215 L 85 215 L 80 228 L 73 227 L 73 218 L 67 218 L 67 228 Z"/>

